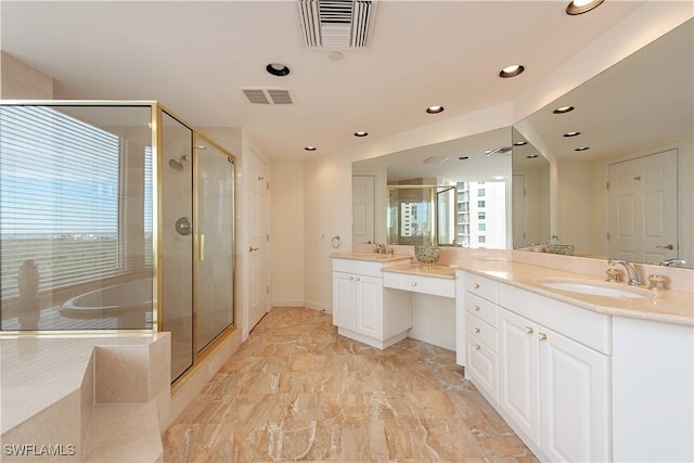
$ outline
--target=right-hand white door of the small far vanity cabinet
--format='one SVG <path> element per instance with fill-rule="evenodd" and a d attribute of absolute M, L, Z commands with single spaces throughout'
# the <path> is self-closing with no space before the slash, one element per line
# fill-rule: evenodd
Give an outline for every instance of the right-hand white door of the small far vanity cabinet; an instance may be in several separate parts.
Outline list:
<path fill-rule="evenodd" d="M 383 339 L 383 279 L 355 275 L 358 333 Z"/>

